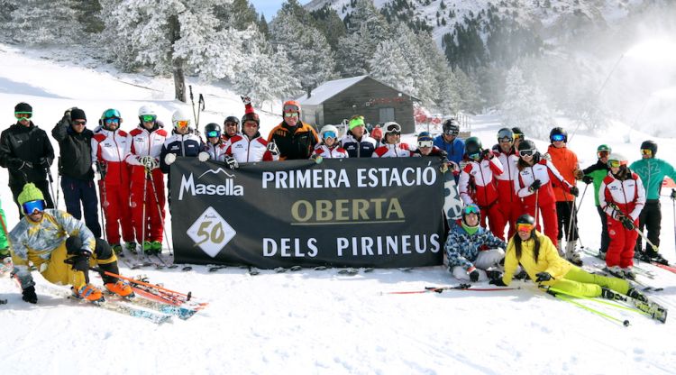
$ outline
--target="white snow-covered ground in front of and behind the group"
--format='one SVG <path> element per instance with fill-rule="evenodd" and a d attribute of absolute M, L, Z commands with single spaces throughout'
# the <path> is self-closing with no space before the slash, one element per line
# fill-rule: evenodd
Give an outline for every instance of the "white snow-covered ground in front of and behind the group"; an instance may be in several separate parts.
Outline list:
<path fill-rule="evenodd" d="M 33 121 L 51 130 L 63 111 L 85 109 L 89 126 L 108 107 L 118 108 L 132 129 L 136 111 L 157 105 L 160 119 L 183 106 L 172 100 L 170 79 L 118 74 L 114 69 L 88 69 L 68 61 L 41 59 L 45 51 L 21 51 L 0 45 L 0 115 L 5 129 L 14 123 L 14 105 L 33 106 Z M 142 87 L 135 87 L 125 83 Z M 191 82 L 194 83 L 194 82 Z M 148 88 L 143 88 L 148 87 Z M 240 116 L 235 93 L 194 83 L 205 93 L 209 111 L 201 123 L 223 123 Z M 279 106 L 279 105 L 278 105 Z M 189 109 L 189 107 L 187 107 Z M 279 116 L 261 115 L 263 134 Z M 566 124 L 562 123 L 564 126 Z M 549 127 L 549 125 L 547 125 Z M 495 117 L 476 117 L 473 135 L 485 146 L 495 142 L 501 125 Z M 570 129 L 570 128 L 569 128 Z M 571 131 L 571 129 L 570 129 Z M 629 134 L 629 141 L 626 137 Z M 414 140 L 413 135 L 405 137 Z M 595 161 L 598 143 L 607 143 L 630 159 L 639 157 L 647 139 L 636 129 L 616 123 L 606 133 L 577 133 L 571 149 L 582 167 Z M 673 140 L 657 139 L 658 156 L 676 162 Z M 53 143 L 58 152 L 58 145 Z M 544 151 L 546 142 L 537 142 Z M 53 171 L 56 175 L 56 170 Z M 580 184 L 580 190 L 584 187 Z M 676 261 L 671 200 L 662 194 L 662 253 Z M 10 227 L 18 214 L 0 169 L 0 195 Z M 63 202 L 61 202 L 63 207 Z M 425 209 L 421 207 L 421 209 Z M 598 248 L 599 220 L 591 190 L 580 207 L 582 242 Z M 589 261 L 589 258 L 587 258 Z M 646 266 L 650 267 L 650 266 Z M 676 275 L 650 267 L 651 280 L 664 290 L 655 300 L 676 306 Z M 22 301 L 14 282 L 0 279 L 4 374 L 32 373 L 611 373 L 671 374 L 676 369 L 673 318 L 666 325 L 628 311 L 597 307 L 629 319 L 623 327 L 579 307 L 537 291 L 532 283 L 515 282 L 519 290 L 449 291 L 443 294 L 387 295 L 390 291 L 457 284 L 443 267 L 374 270 L 343 276 L 337 270 L 300 270 L 258 276 L 227 268 L 193 270 L 128 270 L 147 274 L 168 288 L 192 291 L 211 301 L 187 321 L 153 325 L 128 316 L 53 297 L 37 273 L 39 303 Z M 97 280 L 96 282 L 100 282 Z"/>

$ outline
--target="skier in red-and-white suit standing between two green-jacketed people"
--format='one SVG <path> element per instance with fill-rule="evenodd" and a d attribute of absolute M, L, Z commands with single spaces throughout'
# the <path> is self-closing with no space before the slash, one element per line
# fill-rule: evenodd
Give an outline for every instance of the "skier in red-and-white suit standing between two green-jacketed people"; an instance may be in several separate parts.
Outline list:
<path fill-rule="evenodd" d="M 635 279 L 634 246 L 638 233 L 638 215 L 645 206 L 645 189 L 641 178 L 626 167 L 627 160 L 618 153 L 607 158 L 610 171 L 598 188 L 598 203 L 607 215 L 610 245 L 606 252 L 607 269 L 615 276 Z"/>

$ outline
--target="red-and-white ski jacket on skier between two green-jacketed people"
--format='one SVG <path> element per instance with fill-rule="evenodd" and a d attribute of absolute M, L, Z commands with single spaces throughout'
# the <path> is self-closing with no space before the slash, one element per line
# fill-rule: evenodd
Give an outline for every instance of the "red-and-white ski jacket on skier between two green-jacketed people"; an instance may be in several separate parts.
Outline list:
<path fill-rule="evenodd" d="M 627 176 L 621 180 L 613 176 L 612 172 L 607 172 L 598 190 L 598 202 L 610 217 L 617 219 L 619 215 L 625 215 L 635 221 L 645 206 L 645 189 L 637 174 L 627 170 Z M 621 212 L 617 213 L 608 203 L 615 203 Z"/>

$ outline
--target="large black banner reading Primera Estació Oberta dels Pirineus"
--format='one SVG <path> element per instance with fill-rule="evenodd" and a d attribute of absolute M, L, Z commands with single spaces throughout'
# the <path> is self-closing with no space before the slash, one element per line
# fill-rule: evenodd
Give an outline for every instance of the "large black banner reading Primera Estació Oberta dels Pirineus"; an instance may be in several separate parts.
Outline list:
<path fill-rule="evenodd" d="M 443 177 L 436 158 L 171 165 L 177 263 L 263 269 L 442 263 Z"/>

